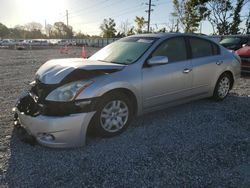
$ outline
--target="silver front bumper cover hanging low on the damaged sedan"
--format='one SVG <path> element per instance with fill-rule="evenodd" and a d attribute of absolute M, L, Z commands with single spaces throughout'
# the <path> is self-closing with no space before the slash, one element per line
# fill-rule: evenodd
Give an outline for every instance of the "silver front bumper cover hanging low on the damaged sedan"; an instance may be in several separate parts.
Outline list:
<path fill-rule="evenodd" d="M 32 117 L 17 110 L 17 114 L 21 126 L 38 143 L 47 147 L 68 148 L 85 145 L 87 128 L 95 112 Z"/>

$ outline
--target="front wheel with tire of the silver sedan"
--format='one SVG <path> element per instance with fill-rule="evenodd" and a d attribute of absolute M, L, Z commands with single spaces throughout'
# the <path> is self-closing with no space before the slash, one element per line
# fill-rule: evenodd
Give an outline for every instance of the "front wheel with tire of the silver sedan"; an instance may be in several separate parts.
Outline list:
<path fill-rule="evenodd" d="M 123 93 L 104 95 L 94 116 L 94 132 L 103 137 L 121 134 L 131 122 L 132 103 Z"/>

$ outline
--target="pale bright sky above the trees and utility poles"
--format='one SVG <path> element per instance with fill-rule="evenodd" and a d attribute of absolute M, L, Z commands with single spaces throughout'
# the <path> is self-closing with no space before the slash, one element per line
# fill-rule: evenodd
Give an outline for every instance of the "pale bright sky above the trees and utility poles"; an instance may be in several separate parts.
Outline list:
<path fill-rule="evenodd" d="M 25 25 L 29 22 L 66 23 L 68 10 L 69 25 L 73 30 L 89 35 L 99 35 L 100 24 L 104 18 L 113 18 L 119 29 L 121 22 L 134 25 L 135 16 L 147 20 L 148 0 L 0 0 L 0 23 L 7 27 Z M 167 27 L 172 10 L 172 0 L 152 0 L 151 27 Z M 243 8 L 243 13 L 249 6 Z M 212 33 L 207 21 L 202 22 L 202 33 Z"/>

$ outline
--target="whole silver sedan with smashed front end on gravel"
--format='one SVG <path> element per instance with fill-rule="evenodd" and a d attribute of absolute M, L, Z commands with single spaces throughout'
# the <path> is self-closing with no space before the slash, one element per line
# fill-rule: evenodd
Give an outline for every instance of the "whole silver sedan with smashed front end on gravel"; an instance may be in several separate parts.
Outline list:
<path fill-rule="evenodd" d="M 16 118 L 42 145 L 83 146 L 88 129 L 115 136 L 147 112 L 207 97 L 221 101 L 239 77 L 240 58 L 207 37 L 135 35 L 89 59 L 46 62 L 18 99 Z"/>

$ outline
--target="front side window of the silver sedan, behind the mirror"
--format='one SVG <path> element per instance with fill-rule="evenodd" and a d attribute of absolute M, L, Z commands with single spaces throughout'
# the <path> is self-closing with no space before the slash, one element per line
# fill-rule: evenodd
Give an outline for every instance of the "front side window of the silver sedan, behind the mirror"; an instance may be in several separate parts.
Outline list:
<path fill-rule="evenodd" d="M 184 38 L 172 38 L 164 41 L 152 53 L 152 57 L 154 56 L 166 56 L 169 63 L 186 60 L 187 51 Z"/>

